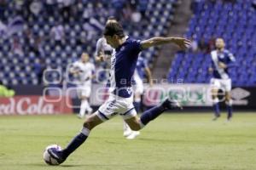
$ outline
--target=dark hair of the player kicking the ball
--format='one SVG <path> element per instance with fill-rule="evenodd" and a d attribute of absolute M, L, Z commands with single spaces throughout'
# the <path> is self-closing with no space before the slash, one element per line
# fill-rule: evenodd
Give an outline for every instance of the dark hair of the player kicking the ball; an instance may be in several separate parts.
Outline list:
<path fill-rule="evenodd" d="M 117 35 L 119 37 L 125 37 L 123 27 L 119 25 L 119 23 L 117 22 L 108 23 L 105 27 L 103 35 L 111 36 L 111 37 L 113 37 L 113 35 Z"/>

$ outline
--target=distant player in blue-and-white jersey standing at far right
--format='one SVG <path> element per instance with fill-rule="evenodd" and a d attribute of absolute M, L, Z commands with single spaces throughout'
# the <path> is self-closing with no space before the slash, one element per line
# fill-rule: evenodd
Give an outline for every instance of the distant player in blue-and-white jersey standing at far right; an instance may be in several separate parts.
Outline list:
<path fill-rule="evenodd" d="M 216 50 L 211 52 L 212 55 L 212 67 L 209 71 L 212 72 L 213 78 L 211 79 L 212 86 L 212 100 L 214 109 L 213 121 L 217 120 L 220 116 L 218 106 L 218 90 L 222 89 L 225 93 L 225 102 L 227 105 L 228 116 L 227 120 L 230 121 L 232 117 L 232 100 L 231 100 L 231 79 L 229 76 L 230 67 L 236 66 L 236 59 L 229 50 L 225 49 L 224 39 L 217 38 Z"/>

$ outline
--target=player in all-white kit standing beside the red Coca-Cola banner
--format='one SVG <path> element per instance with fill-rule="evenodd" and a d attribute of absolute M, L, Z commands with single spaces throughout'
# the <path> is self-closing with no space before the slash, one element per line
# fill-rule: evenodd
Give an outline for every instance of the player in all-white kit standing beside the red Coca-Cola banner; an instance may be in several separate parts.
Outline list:
<path fill-rule="evenodd" d="M 83 118 L 85 112 L 91 114 L 92 109 L 88 103 L 90 98 L 91 79 L 94 77 L 95 66 L 90 62 L 89 55 L 86 53 L 81 54 L 81 58 L 75 61 L 69 70 L 74 77 L 77 77 L 76 84 L 78 86 L 77 93 L 81 99 L 79 118 Z"/>

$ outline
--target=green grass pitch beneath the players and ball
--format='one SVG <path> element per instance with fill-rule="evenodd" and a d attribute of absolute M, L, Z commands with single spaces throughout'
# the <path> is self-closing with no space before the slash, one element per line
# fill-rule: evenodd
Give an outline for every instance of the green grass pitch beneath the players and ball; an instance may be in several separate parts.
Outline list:
<path fill-rule="evenodd" d="M 79 132 L 76 116 L 0 116 L 1 170 L 255 170 L 256 114 L 165 114 L 127 140 L 119 116 L 90 133 L 61 166 L 43 161 L 49 144 L 66 146 Z"/>

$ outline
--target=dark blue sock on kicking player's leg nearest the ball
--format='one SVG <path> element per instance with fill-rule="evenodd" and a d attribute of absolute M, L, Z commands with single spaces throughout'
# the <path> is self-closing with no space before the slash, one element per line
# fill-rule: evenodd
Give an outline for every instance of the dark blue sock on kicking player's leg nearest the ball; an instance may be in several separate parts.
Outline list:
<path fill-rule="evenodd" d="M 72 154 L 74 150 L 79 148 L 79 146 L 83 144 L 84 141 L 88 138 L 89 133 L 90 133 L 90 130 L 83 128 L 82 133 L 79 133 L 76 137 L 74 137 L 73 140 L 67 145 L 67 148 L 62 150 L 63 158 L 66 159 L 67 156 Z"/>

